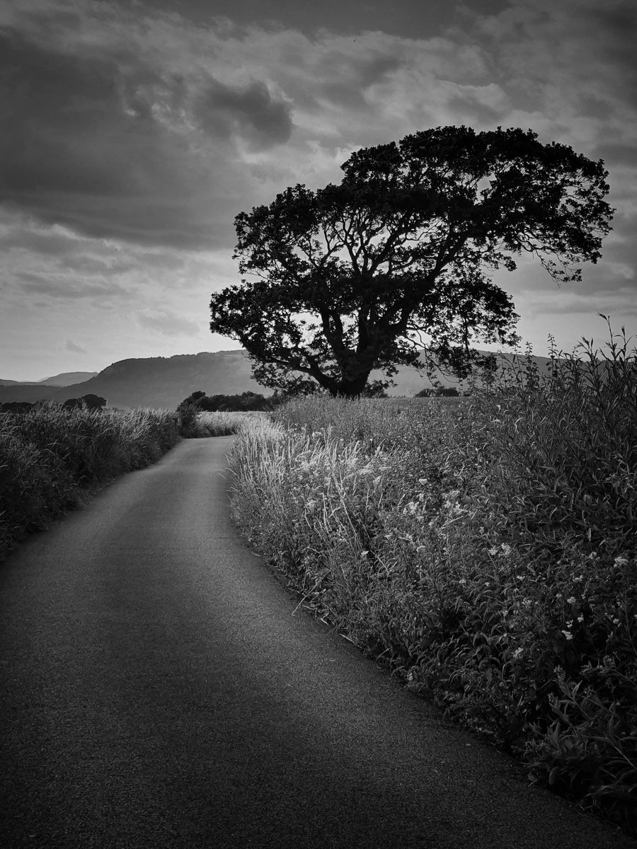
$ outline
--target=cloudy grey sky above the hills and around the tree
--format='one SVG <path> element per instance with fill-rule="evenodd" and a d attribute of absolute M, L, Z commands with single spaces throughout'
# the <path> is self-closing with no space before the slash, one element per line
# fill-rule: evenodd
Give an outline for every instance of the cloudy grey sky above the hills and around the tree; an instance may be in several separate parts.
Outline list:
<path fill-rule="evenodd" d="M 447 125 L 605 161 L 582 283 L 494 279 L 539 356 L 637 334 L 636 39 L 634 0 L 0 0 L 0 377 L 239 347 L 234 216 Z"/>

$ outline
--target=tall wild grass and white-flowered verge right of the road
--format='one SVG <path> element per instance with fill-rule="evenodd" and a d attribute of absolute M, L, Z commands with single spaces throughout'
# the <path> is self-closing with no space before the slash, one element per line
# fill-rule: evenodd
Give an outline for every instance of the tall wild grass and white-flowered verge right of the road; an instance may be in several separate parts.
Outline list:
<path fill-rule="evenodd" d="M 454 405 L 290 402 L 234 444 L 233 513 L 409 689 L 635 834 L 635 434 L 612 337 Z"/>

